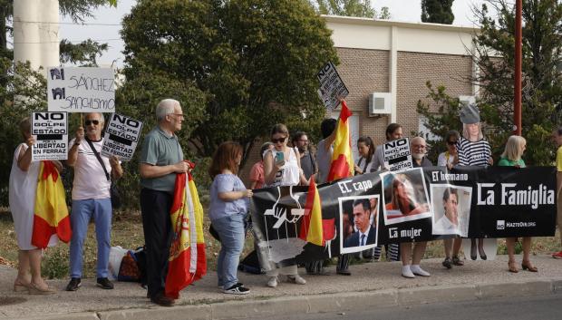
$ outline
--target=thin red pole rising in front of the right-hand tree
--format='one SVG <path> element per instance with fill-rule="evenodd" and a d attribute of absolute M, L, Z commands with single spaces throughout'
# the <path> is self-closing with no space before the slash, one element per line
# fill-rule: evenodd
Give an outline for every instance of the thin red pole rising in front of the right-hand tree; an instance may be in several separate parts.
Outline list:
<path fill-rule="evenodd" d="M 514 134 L 521 135 L 521 46 L 522 46 L 522 30 L 521 19 L 523 12 L 523 0 L 515 2 L 515 83 L 514 87 L 514 104 L 513 104 L 513 124 Z"/>

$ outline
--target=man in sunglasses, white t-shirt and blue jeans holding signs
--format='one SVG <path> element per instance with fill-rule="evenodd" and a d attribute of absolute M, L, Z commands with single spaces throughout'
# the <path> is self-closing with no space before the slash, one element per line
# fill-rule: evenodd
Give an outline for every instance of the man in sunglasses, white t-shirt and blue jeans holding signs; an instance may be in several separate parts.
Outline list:
<path fill-rule="evenodd" d="M 97 256 L 97 285 L 112 289 L 108 279 L 111 240 L 111 177 L 121 178 L 123 170 L 117 157 L 104 157 L 102 151 L 103 114 L 86 113 L 84 128 L 76 131 L 66 163 L 74 168 L 73 207 L 71 223 L 73 238 L 70 244 L 70 276 L 67 291 L 76 291 L 82 278 L 82 247 L 91 218 L 95 223 Z M 103 163 L 103 167 L 102 167 Z"/>

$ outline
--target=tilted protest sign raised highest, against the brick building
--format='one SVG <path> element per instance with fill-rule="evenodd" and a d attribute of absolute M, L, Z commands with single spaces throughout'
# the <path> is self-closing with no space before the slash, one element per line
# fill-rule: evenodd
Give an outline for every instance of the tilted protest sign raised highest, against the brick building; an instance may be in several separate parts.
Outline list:
<path fill-rule="evenodd" d="M 344 81 L 335 70 L 334 63 L 326 63 L 322 69 L 316 73 L 320 82 L 318 96 L 324 102 L 325 107 L 332 111 L 340 104 L 338 98 L 344 99 L 349 94 Z"/>

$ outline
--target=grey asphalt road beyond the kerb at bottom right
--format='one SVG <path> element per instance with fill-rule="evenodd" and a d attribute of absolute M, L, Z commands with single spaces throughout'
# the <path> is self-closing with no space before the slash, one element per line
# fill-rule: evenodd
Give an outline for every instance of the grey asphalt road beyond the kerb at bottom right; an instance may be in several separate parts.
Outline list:
<path fill-rule="evenodd" d="M 284 315 L 267 320 L 555 320 L 562 318 L 562 296 L 496 298 L 457 303 L 384 307 L 342 313 Z M 247 318 L 261 320 L 262 318 Z"/>

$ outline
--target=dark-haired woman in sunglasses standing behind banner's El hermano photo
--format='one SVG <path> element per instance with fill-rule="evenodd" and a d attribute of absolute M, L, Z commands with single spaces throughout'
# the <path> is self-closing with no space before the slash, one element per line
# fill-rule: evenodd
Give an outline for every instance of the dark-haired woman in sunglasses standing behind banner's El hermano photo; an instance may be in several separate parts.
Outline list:
<path fill-rule="evenodd" d="M 451 130 L 447 132 L 445 135 L 447 150 L 442 152 L 437 158 L 438 166 L 447 167 L 447 169 L 451 170 L 451 168 L 459 162 L 459 154 L 457 152 L 457 141 L 459 141 L 459 139 L 459 131 Z M 464 262 L 459 258 L 461 245 L 461 238 L 449 238 L 443 240 L 443 247 L 445 248 L 445 260 L 441 263 L 443 267 L 451 269 L 452 265 L 464 266 Z M 455 254 L 453 254 L 453 252 Z"/>

